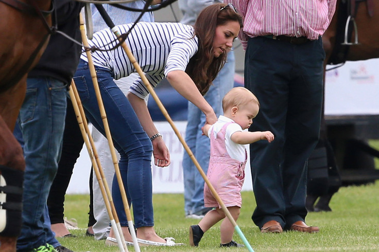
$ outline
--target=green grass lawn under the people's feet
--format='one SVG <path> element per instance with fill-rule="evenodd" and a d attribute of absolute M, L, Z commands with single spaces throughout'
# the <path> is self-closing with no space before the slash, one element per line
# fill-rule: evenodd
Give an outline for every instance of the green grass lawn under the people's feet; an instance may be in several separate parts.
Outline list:
<path fill-rule="evenodd" d="M 331 201 L 332 212 L 312 212 L 307 215 L 309 225 L 317 225 L 315 234 L 284 232 L 262 234 L 251 221 L 255 207 L 252 192 L 243 192 L 243 207 L 237 221 L 255 251 L 379 251 L 379 182 L 368 186 L 342 187 Z M 188 227 L 197 220 L 184 218 L 182 194 L 153 194 L 155 229 L 162 237 L 174 237 L 176 242 L 188 244 Z M 65 216 L 75 218 L 81 230 L 71 230 L 77 238 L 59 241 L 74 251 L 118 251 L 85 237 L 88 222 L 88 195 L 66 195 Z M 234 240 L 242 243 L 238 235 Z M 244 248 L 219 248 L 219 224 L 205 233 L 199 247 L 141 247 L 141 251 L 225 251 Z M 134 251 L 133 247 L 128 247 Z"/>

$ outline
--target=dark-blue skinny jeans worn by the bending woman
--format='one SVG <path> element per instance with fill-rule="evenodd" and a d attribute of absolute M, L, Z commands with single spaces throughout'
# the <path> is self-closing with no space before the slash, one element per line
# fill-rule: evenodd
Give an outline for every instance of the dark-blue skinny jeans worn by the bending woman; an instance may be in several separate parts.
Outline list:
<path fill-rule="evenodd" d="M 95 69 L 114 147 L 120 154 L 119 170 L 128 202 L 133 205 L 135 228 L 153 226 L 151 141 L 143 130 L 128 99 L 113 81 L 111 71 L 96 66 Z M 95 128 L 105 136 L 87 62 L 80 60 L 74 81 L 83 103 L 85 115 Z M 116 176 L 113 178 L 112 197 L 120 224 L 127 226 Z"/>

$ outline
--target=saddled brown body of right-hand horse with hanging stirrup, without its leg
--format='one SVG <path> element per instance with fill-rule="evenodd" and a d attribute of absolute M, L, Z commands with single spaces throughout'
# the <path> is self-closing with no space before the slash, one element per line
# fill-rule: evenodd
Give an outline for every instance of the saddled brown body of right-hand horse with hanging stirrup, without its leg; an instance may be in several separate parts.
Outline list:
<path fill-rule="evenodd" d="M 379 3 L 377 1 L 337 0 L 333 19 L 322 35 L 326 55 L 324 65 L 379 58 L 379 43 L 372 35 L 379 31 L 378 21 Z M 354 24 L 356 29 L 354 29 Z M 348 31 L 346 31 L 346 25 L 348 25 Z M 345 34 L 347 38 L 344 37 Z M 357 38 L 357 44 L 355 38 Z M 332 56 L 334 56 L 333 59 Z M 335 59 L 338 56 L 339 59 Z"/>

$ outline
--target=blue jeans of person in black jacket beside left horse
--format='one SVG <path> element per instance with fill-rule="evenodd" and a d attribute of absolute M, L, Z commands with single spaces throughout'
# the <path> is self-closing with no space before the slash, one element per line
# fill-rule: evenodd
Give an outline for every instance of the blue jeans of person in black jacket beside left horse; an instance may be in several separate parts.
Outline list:
<path fill-rule="evenodd" d="M 23 225 L 18 251 L 49 243 L 59 246 L 50 229 L 47 196 L 58 169 L 64 117 L 66 84 L 51 78 L 29 78 L 18 122 L 25 140 Z"/>

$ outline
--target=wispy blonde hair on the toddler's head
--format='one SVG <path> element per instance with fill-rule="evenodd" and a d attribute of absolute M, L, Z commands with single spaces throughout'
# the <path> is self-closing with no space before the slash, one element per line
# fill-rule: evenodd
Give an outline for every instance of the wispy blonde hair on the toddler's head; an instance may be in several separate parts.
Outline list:
<path fill-rule="evenodd" d="M 231 107 L 242 107 L 249 104 L 250 102 L 254 102 L 258 104 L 259 107 L 261 107 L 258 99 L 253 93 L 251 93 L 249 89 L 242 86 L 233 87 L 222 98 L 222 110 L 225 113 Z"/>

